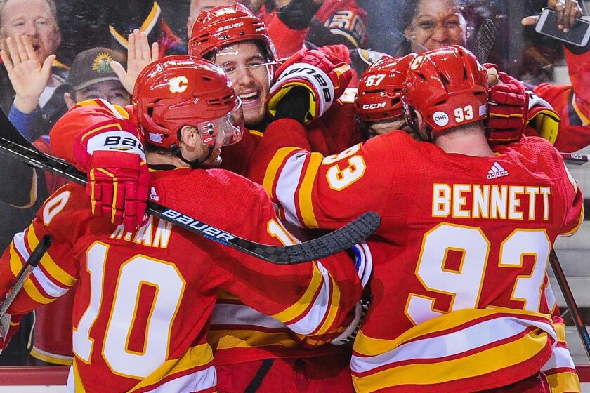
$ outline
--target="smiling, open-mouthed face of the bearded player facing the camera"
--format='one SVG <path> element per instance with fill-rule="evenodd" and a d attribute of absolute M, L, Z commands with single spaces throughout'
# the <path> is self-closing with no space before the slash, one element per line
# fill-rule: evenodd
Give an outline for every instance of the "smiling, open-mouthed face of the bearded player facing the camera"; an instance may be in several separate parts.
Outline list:
<path fill-rule="evenodd" d="M 270 89 L 268 60 L 253 41 L 226 46 L 216 54 L 215 63 L 223 68 L 242 99 L 244 124 L 254 126 L 266 114 L 266 98 Z"/>

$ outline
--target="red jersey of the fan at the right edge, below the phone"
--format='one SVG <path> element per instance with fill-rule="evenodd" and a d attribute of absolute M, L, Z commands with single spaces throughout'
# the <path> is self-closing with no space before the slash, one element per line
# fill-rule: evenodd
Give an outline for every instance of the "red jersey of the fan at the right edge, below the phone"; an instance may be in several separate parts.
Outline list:
<path fill-rule="evenodd" d="M 575 152 L 590 145 L 590 52 L 581 55 L 564 48 L 571 85 L 540 84 L 533 91 L 560 116 L 554 143 L 560 152 Z"/>

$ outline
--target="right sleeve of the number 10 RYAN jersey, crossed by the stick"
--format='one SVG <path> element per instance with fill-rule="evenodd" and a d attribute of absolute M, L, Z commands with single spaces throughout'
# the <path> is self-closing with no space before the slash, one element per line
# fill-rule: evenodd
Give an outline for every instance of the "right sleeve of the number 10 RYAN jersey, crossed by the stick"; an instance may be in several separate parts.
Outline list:
<path fill-rule="evenodd" d="M 178 206 L 179 211 L 192 217 L 261 244 L 296 242 L 277 219 L 272 202 L 259 185 L 223 170 L 188 171 L 185 176 L 166 176 L 175 184 L 185 185 L 182 193 L 155 182 L 160 201 L 166 206 Z M 221 195 L 223 200 L 204 204 L 195 199 L 203 195 Z M 360 299 L 360 281 L 346 253 L 327 258 L 327 263 L 341 266 L 332 274 L 319 260 L 273 265 L 211 241 L 199 241 L 200 246 L 209 250 L 216 264 L 213 276 L 220 286 L 302 335 L 336 330 Z"/>

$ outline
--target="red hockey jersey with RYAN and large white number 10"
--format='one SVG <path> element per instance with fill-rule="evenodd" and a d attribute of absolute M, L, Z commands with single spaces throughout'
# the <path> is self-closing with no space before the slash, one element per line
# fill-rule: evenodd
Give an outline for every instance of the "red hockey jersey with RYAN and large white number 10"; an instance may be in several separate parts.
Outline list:
<path fill-rule="evenodd" d="M 152 187 L 152 199 L 240 237 L 275 245 L 290 239 L 263 189 L 228 171 L 155 172 Z M 159 218 L 124 232 L 93 217 L 77 185 L 60 188 L 15 235 L 1 260 L 0 295 L 44 234 L 53 243 L 9 312 L 52 302 L 77 282 L 68 382 L 76 391 L 213 392 L 205 339 L 218 288 L 303 335 L 336 331 L 360 298 L 344 253 L 327 260 L 339 264 L 346 288 L 320 261 L 272 265 Z"/>

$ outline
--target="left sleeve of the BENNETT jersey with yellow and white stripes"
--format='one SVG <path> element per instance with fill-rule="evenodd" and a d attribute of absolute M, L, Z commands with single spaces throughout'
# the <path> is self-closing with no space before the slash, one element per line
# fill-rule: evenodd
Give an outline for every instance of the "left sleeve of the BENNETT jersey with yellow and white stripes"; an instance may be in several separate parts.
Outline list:
<path fill-rule="evenodd" d="M 393 184 L 391 140 L 372 138 L 322 156 L 308 151 L 302 126 L 288 119 L 275 121 L 258 146 L 250 176 L 291 224 L 334 229 L 367 210 L 383 213 Z"/>

